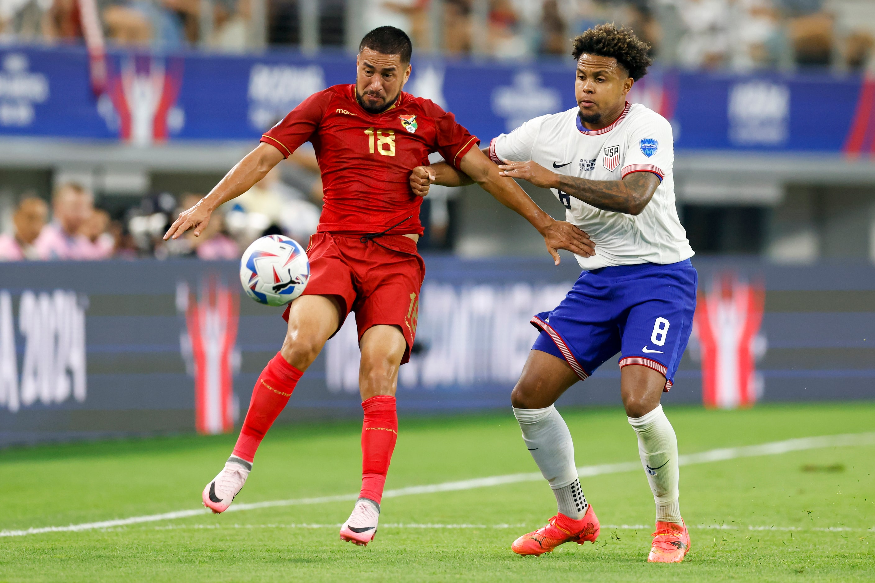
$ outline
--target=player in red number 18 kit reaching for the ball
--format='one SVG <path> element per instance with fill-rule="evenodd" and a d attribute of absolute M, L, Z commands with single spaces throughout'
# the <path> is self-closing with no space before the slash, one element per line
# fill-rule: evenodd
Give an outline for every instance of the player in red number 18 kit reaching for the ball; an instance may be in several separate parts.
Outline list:
<path fill-rule="evenodd" d="M 242 489 L 255 450 L 298 379 L 353 311 L 361 349 L 362 477 L 360 497 L 340 538 L 357 545 L 374 538 L 398 431 L 398 367 L 408 361 L 413 345 L 425 271 L 416 253 L 423 234 L 422 198 L 411 191 L 409 176 L 428 163 L 431 152 L 528 219 L 556 263 L 556 249 L 593 253 L 586 233 L 550 218 L 513 180 L 500 177 L 476 147 L 479 140 L 452 114 L 402 92 L 411 52 L 409 38 L 399 29 L 381 26 L 368 32 L 359 47 L 355 84 L 307 98 L 165 234 L 175 239 L 193 228 L 200 235 L 217 206 L 248 191 L 298 146 L 312 142 L 325 198 L 318 233 L 307 248 L 310 281 L 283 314 L 289 323 L 283 347 L 255 384 L 233 455 L 203 491 L 204 504 L 216 513 Z"/>

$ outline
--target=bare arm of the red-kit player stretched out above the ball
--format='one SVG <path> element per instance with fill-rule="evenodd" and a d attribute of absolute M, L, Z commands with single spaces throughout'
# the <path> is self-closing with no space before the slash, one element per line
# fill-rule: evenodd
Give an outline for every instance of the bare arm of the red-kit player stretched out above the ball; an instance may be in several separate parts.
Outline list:
<path fill-rule="evenodd" d="M 165 233 L 165 240 L 178 239 L 189 229 L 194 229 L 194 236 L 207 228 L 210 223 L 210 215 L 219 205 L 227 203 L 243 192 L 255 186 L 276 164 L 283 159 L 283 154 L 269 143 L 260 143 L 258 147 L 249 152 L 243 159 L 228 170 L 206 197 L 201 198 L 197 205 L 187 211 L 179 213 L 179 218 Z"/>

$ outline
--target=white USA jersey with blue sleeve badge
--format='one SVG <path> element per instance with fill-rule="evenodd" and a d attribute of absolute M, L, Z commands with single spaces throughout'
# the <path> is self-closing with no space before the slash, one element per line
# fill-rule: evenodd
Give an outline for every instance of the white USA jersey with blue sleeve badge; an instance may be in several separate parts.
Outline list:
<path fill-rule="evenodd" d="M 653 172 L 662 182 L 637 216 L 602 211 L 551 189 L 568 209 L 565 218 L 596 244 L 592 257 L 577 255 L 584 269 L 615 265 L 666 265 L 693 256 L 675 208 L 675 145 L 671 124 L 641 104 L 629 105 L 617 121 L 596 131 L 584 128 L 572 108 L 526 121 L 489 145 L 493 162 L 532 160 L 545 168 L 590 180 L 621 180 L 633 172 Z"/>

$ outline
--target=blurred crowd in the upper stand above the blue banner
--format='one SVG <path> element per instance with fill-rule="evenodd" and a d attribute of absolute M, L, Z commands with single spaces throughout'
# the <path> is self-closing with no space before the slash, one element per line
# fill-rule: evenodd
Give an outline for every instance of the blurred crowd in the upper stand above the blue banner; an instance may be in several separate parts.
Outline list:
<path fill-rule="evenodd" d="M 831 65 L 872 55 L 873 0 L 309 0 L 318 42 L 345 45 L 346 24 L 393 24 L 418 50 L 526 59 L 569 52 L 593 24 L 634 29 L 665 64 L 687 67 Z M 245 51 L 301 43 L 308 0 L 0 0 L 0 40 L 81 42 L 93 7 L 114 45 L 199 45 Z M 353 7 L 353 3 L 355 6 Z M 257 7 L 258 10 L 255 10 Z M 353 10 L 354 8 L 354 10 Z M 204 10 L 208 10 L 205 12 Z M 265 15 L 265 19 L 255 14 Z M 351 15 L 361 14 L 361 18 Z M 264 21 L 264 22 L 262 22 Z M 262 31 L 254 24 L 262 23 Z M 259 33 L 260 32 L 260 33 Z"/>

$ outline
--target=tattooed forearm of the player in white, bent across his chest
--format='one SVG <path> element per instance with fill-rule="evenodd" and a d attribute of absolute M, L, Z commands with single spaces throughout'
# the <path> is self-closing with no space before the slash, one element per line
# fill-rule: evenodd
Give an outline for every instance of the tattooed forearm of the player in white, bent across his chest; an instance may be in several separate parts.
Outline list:
<path fill-rule="evenodd" d="M 500 164 L 501 176 L 521 178 L 542 188 L 555 188 L 603 211 L 641 214 L 659 187 L 653 172 L 633 172 L 622 180 L 587 180 L 556 174 L 541 164 L 507 162 Z"/>

